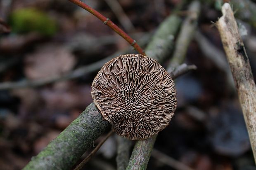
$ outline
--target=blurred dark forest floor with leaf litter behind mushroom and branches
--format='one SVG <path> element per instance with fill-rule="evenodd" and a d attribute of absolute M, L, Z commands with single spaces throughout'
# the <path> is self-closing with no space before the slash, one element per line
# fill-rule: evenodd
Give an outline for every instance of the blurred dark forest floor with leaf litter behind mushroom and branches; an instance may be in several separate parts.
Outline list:
<path fill-rule="evenodd" d="M 191 0 L 84 0 L 143 48 L 170 14 Z M 225 2 L 229 2 L 226 0 Z M 218 30 L 223 1 L 201 0 L 185 63 L 175 80 L 178 108 L 157 137 L 148 170 L 174 170 L 161 155 L 194 170 L 255 170 L 247 129 Z M 256 75 L 256 2 L 231 0 Z M 176 37 L 175 37 L 176 38 Z M 0 0 L 0 170 L 19 170 L 92 102 L 104 63 L 133 48 L 68 0 Z M 162 63 L 166 66 L 168 60 Z M 96 142 L 102 140 L 100 137 Z M 90 150 L 89 150 L 90 151 Z M 86 155 L 86 154 L 85 154 Z M 84 156 L 83 156 L 84 157 Z M 116 169 L 112 135 L 85 166 Z"/>

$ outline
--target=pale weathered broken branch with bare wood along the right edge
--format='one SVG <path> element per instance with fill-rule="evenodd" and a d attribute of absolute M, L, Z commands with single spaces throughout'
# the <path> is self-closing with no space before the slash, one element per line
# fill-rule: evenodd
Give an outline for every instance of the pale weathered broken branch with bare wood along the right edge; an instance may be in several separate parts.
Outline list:
<path fill-rule="evenodd" d="M 218 20 L 217 26 L 235 81 L 256 162 L 256 86 L 254 77 L 230 5 L 225 3 L 221 11 L 223 16 Z"/>

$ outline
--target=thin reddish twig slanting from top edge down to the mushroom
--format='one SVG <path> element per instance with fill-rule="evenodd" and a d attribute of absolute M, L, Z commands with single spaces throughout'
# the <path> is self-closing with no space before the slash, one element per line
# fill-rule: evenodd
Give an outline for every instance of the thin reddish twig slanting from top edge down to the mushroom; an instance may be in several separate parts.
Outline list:
<path fill-rule="evenodd" d="M 98 19 L 100 19 L 104 24 L 109 26 L 112 30 L 114 30 L 116 33 L 121 35 L 129 44 L 131 44 L 139 54 L 142 54 L 143 56 L 146 56 L 145 51 L 140 48 L 140 46 L 136 43 L 135 40 L 133 40 L 128 34 L 126 34 L 121 28 L 116 26 L 109 18 L 106 18 L 99 12 L 97 12 L 95 9 L 92 9 L 92 7 L 86 5 L 85 3 L 81 2 L 80 0 L 69 0 L 70 2 L 73 2 L 74 4 L 78 5 L 79 7 L 82 7 L 86 11 L 90 12 L 92 15 L 96 16 Z"/>

